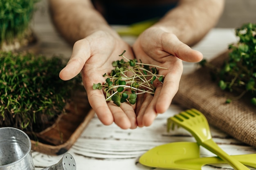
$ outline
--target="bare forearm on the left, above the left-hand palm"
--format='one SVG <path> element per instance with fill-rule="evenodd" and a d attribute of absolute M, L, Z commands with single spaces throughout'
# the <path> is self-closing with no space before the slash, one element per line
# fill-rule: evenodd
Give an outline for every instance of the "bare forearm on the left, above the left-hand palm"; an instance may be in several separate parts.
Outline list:
<path fill-rule="evenodd" d="M 90 0 L 49 0 L 49 9 L 56 29 L 70 43 L 99 30 L 117 36 Z"/>

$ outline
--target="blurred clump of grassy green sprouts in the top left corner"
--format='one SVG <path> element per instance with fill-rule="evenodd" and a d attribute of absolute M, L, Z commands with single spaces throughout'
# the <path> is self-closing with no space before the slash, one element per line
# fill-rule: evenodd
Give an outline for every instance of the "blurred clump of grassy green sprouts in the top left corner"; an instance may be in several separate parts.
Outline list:
<path fill-rule="evenodd" d="M 0 0 L 0 46 L 22 39 L 39 0 Z"/>

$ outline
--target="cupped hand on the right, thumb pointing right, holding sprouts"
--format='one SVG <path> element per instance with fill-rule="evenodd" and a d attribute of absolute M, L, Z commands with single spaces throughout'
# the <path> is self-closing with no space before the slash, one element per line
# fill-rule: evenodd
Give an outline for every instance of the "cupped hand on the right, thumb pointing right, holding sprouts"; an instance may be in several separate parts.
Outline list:
<path fill-rule="evenodd" d="M 159 27 L 145 30 L 132 49 L 138 60 L 143 63 L 161 66 L 157 68 L 160 75 L 164 75 L 163 84 L 155 83 L 157 87 L 154 95 L 138 95 L 136 114 L 139 127 L 150 126 L 158 113 L 164 113 L 178 91 L 183 71 L 182 60 L 199 62 L 202 53 L 191 49 L 182 43 L 173 33 L 168 33 Z"/>

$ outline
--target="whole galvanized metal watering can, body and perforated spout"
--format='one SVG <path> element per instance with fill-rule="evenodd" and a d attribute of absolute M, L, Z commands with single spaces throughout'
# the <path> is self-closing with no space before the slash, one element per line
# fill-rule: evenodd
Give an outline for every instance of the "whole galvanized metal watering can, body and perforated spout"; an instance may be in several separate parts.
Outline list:
<path fill-rule="evenodd" d="M 35 170 L 31 141 L 22 130 L 0 128 L 0 170 Z M 42 170 L 76 170 L 76 162 L 65 153 L 58 163 Z"/>

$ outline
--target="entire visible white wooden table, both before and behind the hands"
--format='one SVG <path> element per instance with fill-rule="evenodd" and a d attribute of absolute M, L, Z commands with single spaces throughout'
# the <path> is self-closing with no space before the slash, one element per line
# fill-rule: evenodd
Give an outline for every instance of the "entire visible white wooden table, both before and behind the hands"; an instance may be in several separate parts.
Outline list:
<path fill-rule="evenodd" d="M 33 23 L 40 40 L 40 52 L 47 56 L 62 54 L 69 58 L 72 47 L 58 36 L 48 14 L 39 9 Z M 125 38 L 131 42 L 132 38 Z M 227 49 L 227 45 L 235 42 L 234 29 L 213 29 L 193 49 L 201 51 L 205 58 L 211 59 Z M 184 62 L 184 74 L 196 68 L 195 64 Z M 170 142 L 195 141 L 189 132 L 182 128 L 166 132 L 166 119 L 182 111 L 183 108 L 171 105 L 166 113 L 159 115 L 150 127 L 134 130 L 122 130 L 115 124 L 103 126 L 97 116 L 90 121 L 82 135 L 68 152 L 76 161 L 77 170 L 149 170 L 150 167 L 138 163 L 139 157 L 147 150 Z M 230 155 L 256 153 L 250 146 L 233 139 L 225 133 L 211 127 L 213 140 Z M 57 163 L 62 155 L 49 156 L 32 152 L 36 170 Z M 201 156 L 214 156 L 201 148 Z M 203 170 L 231 168 L 227 164 L 204 166 Z M 232 169 L 232 168 L 231 168 Z M 158 170 L 158 169 L 156 169 Z"/>

